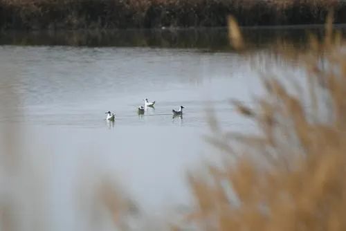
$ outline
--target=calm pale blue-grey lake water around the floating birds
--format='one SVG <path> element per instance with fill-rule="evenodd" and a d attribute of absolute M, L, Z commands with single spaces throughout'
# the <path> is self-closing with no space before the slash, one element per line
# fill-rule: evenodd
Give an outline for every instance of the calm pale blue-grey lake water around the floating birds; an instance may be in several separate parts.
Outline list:
<path fill-rule="evenodd" d="M 248 29 L 246 56 L 229 48 L 222 28 L 8 33 L 0 39 L 2 136 L 20 141 L 21 155 L 43 169 L 42 206 L 55 230 L 75 227 L 69 208 L 83 196 L 79 182 L 99 175 L 116 178 L 148 212 L 188 203 L 187 170 L 216 153 L 203 140 L 210 106 L 224 129 L 254 131 L 229 100 L 251 104 L 262 92 L 258 71 L 299 73 L 273 46 L 304 47 L 305 32 Z M 139 116 L 145 98 L 156 107 Z M 183 118 L 172 118 L 181 105 Z"/>

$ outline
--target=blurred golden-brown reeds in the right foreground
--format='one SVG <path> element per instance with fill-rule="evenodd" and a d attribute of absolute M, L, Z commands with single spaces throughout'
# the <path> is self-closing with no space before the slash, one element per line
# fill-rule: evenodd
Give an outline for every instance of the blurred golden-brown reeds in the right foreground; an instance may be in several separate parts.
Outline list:
<path fill-rule="evenodd" d="M 324 41 L 311 37 L 300 57 L 303 84 L 263 77 L 266 95 L 255 107 L 233 102 L 258 133 L 231 133 L 212 120 L 208 141 L 226 154 L 189 176 L 195 210 L 187 222 L 198 230 L 346 229 L 346 50 L 331 19 Z M 229 26 L 237 48 L 239 28 Z"/>

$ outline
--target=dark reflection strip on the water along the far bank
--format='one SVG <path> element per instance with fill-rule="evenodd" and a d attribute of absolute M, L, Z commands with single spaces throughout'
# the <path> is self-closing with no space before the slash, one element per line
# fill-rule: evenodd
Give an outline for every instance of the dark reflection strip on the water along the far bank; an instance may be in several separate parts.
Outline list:
<path fill-rule="evenodd" d="M 345 33 L 346 26 L 338 26 Z M 323 26 L 242 28 L 246 43 L 253 48 L 288 41 L 307 44 L 308 33 L 322 37 Z M 206 52 L 231 51 L 226 28 L 155 30 L 48 30 L 6 31 L 0 33 L 0 45 L 196 48 Z"/>

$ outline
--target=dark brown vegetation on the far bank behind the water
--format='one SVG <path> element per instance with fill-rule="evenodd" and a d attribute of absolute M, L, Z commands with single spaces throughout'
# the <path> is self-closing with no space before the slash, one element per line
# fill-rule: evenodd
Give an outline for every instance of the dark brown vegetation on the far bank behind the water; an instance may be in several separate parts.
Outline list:
<path fill-rule="evenodd" d="M 322 24 L 329 9 L 346 23 L 343 0 L 0 0 L 0 28 L 84 29 Z"/>

